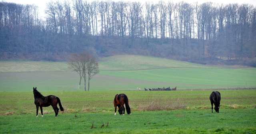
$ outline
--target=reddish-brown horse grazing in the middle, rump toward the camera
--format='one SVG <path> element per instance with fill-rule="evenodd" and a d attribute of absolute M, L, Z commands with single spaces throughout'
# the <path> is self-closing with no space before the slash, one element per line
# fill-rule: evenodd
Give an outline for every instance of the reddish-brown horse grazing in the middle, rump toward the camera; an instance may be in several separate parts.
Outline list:
<path fill-rule="evenodd" d="M 118 106 L 119 114 L 124 115 L 124 111 L 125 111 L 124 104 L 126 107 L 127 114 L 131 114 L 128 97 L 125 94 L 119 94 L 119 95 L 116 94 L 114 98 L 115 115 L 116 115 L 116 106 Z"/>

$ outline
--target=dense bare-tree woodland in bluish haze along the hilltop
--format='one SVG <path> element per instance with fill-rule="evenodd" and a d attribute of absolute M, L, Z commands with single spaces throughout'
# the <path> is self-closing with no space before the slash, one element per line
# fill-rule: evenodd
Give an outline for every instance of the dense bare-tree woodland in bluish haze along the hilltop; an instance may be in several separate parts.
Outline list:
<path fill-rule="evenodd" d="M 256 7 L 187 2 L 0 2 L 0 58 L 66 60 L 138 54 L 200 64 L 256 67 Z"/>

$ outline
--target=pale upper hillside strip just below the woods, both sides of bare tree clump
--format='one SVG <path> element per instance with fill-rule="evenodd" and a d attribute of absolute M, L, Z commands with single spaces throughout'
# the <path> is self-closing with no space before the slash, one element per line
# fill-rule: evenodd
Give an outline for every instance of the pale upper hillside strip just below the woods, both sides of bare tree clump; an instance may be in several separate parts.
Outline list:
<path fill-rule="evenodd" d="M 190 62 L 169 60 L 152 56 L 117 55 L 101 58 L 98 61 L 101 71 L 106 70 L 149 70 L 164 68 L 248 68 L 246 66 L 206 66 Z M 71 71 L 66 62 L 0 60 L 0 72 L 52 72 Z"/>

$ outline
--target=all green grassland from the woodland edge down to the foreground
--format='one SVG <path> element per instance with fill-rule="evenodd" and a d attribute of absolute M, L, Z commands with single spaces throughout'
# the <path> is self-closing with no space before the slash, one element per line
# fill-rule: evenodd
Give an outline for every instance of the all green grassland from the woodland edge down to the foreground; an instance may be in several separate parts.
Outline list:
<path fill-rule="evenodd" d="M 65 62 L 0 61 L 0 133 L 256 133 L 256 68 L 133 55 L 102 58 L 99 64 L 100 74 L 84 92 Z M 169 86 L 177 91 L 143 91 Z M 64 113 L 55 117 L 47 107 L 36 118 L 33 87 L 58 96 Z M 211 113 L 212 90 L 221 93 L 220 113 Z M 114 116 L 113 99 L 120 93 L 128 96 L 132 115 Z M 146 110 L 153 106 L 159 107 Z M 96 128 L 90 129 L 92 123 Z"/>

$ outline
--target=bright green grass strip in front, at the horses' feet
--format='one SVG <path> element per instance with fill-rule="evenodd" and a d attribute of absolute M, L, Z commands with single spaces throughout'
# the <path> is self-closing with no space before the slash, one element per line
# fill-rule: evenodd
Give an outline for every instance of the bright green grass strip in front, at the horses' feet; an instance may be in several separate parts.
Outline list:
<path fill-rule="evenodd" d="M 0 133 L 120 133 L 120 134 L 255 134 L 256 110 L 224 109 L 132 112 L 132 115 L 100 113 L 32 114 L 0 116 Z M 92 128 L 92 123 L 94 127 Z M 102 124 L 104 126 L 101 128 Z M 106 125 L 108 126 L 106 127 Z"/>

